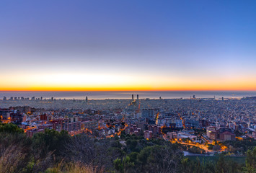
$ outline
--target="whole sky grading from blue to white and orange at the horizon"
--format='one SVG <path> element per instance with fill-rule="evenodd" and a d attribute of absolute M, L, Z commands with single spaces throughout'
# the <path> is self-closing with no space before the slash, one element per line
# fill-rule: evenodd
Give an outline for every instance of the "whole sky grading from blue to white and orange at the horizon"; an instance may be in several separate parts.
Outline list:
<path fill-rule="evenodd" d="M 0 90 L 256 90 L 256 1 L 0 2 Z"/>

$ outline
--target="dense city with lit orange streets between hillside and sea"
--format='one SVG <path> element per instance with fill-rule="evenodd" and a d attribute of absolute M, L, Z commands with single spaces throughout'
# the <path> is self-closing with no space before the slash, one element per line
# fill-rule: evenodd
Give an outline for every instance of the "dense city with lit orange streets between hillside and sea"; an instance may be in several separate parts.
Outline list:
<path fill-rule="evenodd" d="M 147 140 L 198 146 L 208 154 L 229 151 L 227 146 L 209 150 L 213 141 L 256 140 L 256 97 L 140 99 L 132 94 L 131 99 L 4 97 L 0 102 L 1 122 L 19 124 L 30 137 L 45 128 L 66 130 L 71 136 L 89 133 L 94 138 L 120 136 L 123 131 Z"/>

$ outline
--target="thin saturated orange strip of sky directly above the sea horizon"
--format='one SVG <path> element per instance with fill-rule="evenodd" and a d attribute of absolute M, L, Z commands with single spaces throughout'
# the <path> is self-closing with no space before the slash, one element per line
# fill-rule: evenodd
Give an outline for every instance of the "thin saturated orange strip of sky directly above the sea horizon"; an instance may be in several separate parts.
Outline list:
<path fill-rule="evenodd" d="M 148 85 L 108 85 L 108 86 L 28 86 L 28 87 L 1 87 L 2 92 L 182 92 L 182 91 L 256 91 L 252 84 L 227 84 L 223 86 L 213 84 L 176 84 L 174 86 Z"/>

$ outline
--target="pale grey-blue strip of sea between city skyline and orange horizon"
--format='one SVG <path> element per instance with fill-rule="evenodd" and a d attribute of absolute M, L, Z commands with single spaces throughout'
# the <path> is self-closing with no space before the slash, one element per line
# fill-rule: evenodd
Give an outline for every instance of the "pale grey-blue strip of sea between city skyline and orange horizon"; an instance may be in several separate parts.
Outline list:
<path fill-rule="evenodd" d="M 136 99 L 137 94 L 139 99 L 188 99 L 195 96 L 195 98 L 242 98 L 255 97 L 256 91 L 242 92 L 242 91 L 170 91 L 170 92 L 1 92 L 0 99 L 6 97 L 35 97 L 43 99 L 131 99 L 133 94 Z"/>

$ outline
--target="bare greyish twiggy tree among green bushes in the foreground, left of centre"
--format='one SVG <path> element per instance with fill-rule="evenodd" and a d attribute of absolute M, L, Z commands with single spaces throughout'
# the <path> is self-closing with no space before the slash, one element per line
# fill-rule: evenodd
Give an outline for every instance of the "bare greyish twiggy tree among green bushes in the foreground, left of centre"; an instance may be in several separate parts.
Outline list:
<path fill-rule="evenodd" d="M 111 147 L 112 142 L 115 143 L 114 138 L 96 140 L 80 134 L 65 144 L 63 156 L 68 162 L 90 165 L 97 172 L 102 169 L 111 170 L 115 159 L 123 156 L 120 148 Z"/>

